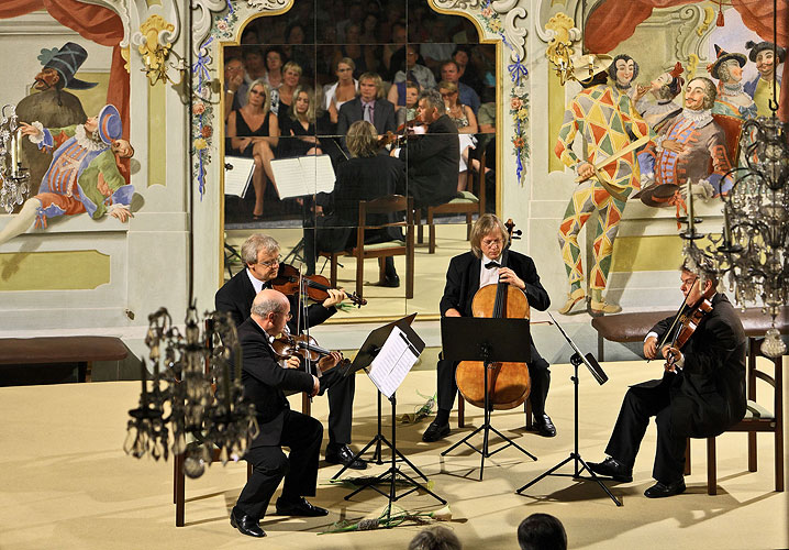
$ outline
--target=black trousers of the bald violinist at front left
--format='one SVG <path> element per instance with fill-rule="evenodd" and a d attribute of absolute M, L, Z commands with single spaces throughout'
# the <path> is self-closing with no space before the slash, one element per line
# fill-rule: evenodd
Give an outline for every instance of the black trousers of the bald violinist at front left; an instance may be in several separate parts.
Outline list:
<path fill-rule="evenodd" d="M 236 515 L 263 518 L 282 477 L 284 497 L 314 496 L 322 439 L 321 422 L 286 409 L 280 444 L 253 447 L 244 455 L 244 460 L 253 465 L 253 471 L 235 503 Z M 282 452 L 282 447 L 290 448 L 288 457 Z"/>

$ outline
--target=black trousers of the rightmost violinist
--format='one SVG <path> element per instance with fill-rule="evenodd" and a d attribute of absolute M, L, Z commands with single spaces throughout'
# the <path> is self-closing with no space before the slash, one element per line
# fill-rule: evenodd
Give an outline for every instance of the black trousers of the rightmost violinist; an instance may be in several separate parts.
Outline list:
<path fill-rule="evenodd" d="M 637 385 L 627 389 L 605 453 L 633 468 L 649 418 L 657 424 L 657 450 L 652 476 L 660 483 L 679 481 L 685 471 L 686 438 L 673 433 L 670 384 Z"/>

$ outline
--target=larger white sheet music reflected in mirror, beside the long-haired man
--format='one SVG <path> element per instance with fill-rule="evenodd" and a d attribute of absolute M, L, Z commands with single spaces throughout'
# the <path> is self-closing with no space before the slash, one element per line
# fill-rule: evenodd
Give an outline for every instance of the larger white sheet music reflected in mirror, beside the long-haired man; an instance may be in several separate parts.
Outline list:
<path fill-rule="evenodd" d="M 334 168 L 329 155 L 297 156 L 271 161 L 280 199 L 334 190 Z"/>

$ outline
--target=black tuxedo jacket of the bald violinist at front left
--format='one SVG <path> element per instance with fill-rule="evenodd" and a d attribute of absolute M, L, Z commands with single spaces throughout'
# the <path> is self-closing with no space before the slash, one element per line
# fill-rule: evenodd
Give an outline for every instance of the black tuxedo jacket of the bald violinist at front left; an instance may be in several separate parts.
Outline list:
<path fill-rule="evenodd" d="M 238 341 L 243 352 L 241 381 L 244 397 L 255 404 L 260 435 L 252 447 L 278 446 L 282 435 L 285 410 L 289 409 L 286 389 L 310 393 L 311 374 L 296 369 L 284 369 L 277 362 L 266 332 L 248 318 L 238 327 Z"/>

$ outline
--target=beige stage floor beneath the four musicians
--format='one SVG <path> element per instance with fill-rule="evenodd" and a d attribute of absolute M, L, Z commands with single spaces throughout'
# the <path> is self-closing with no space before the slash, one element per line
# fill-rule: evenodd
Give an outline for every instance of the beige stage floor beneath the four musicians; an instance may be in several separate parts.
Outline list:
<path fill-rule="evenodd" d="M 607 363 L 611 381 L 598 386 L 581 373 L 580 452 L 599 460 L 627 384 L 659 375 L 659 365 Z M 684 495 L 649 501 L 654 428 L 651 427 L 635 465 L 635 480 L 613 485 L 623 499 L 618 508 L 592 482 L 548 477 L 519 496 L 514 491 L 560 460 L 573 448 L 573 385 L 567 365 L 554 365 L 548 413 L 558 428 L 554 439 L 522 430 L 523 413 L 501 411 L 493 424 L 538 457 L 532 462 L 508 449 L 486 462 L 485 480 L 477 481 L 479 460 L 470 451 L 445 458 L 446 443 L 425 444 L 420 425 L 399 425 L 398 446 L 449 501 L 454 529 L 467 549 L 516 549 L 515 529 L 529 514 L 554 514 L 564 521 L 570 548 L 787 548 L 787 493 L 775 493 L 773 442 L 759 437 L 759 471 L 747 472 L 745 436 L 719 438 L 719 494 L 705 491 L 704 446 L 693 450 L 693 473 Z M 409 375 L 399 392 L 399 413 L 412 411 L 432 393 L 432 371 Z M 329 518 L 266 517 L 268 537 L 246 538 L 232 529 L 227 514 L 244 484 L 245 468 L 214 465 L 203 477 L 187 481 L 187 526 L 176 528 L 171 503 L 171 462 L 135 460 L 121 450 L 126 411 L 137 405 L 138 383 L 108 382 L 58 386 L 0 388 L 0 548 L 10 549 L 136 549 L 136 548 L 277 548 L 277 549 L 404 549 L 419 527 L 391 530 L 316 534 L 342 518 L 362 518 L 385 504 L 373 491 L 351 502 L 344 487 L 325 482 L 337 466 L 322 463 L 313 503 L 331 510 Z M 325 419 L 325 399 L 315 400 Z M 388 408 L 385 408 L 388 411 Z M 471 409 L 480 422 L 480 409 Z M 454 422 L 454 418 L 453 418 Z M 373 384 L 359 377 L 354 443 L 375 432 Z M 389 422 L 386 422 L 389 436 Z M 454 430 L 451 441 L 470 430 Z M 367 472 L 379 472 L 375 466 Z M 409 471 L 408 469 L 405 470 Z M 570 472 L 566 466 L 563 472 Z M 354 475 L 357 475 L 355 472 Z M 400 504 L 410 510 L 431 510 L 438 503 L 426 494 L 410 495 Z"/>

